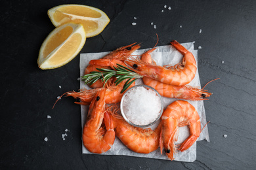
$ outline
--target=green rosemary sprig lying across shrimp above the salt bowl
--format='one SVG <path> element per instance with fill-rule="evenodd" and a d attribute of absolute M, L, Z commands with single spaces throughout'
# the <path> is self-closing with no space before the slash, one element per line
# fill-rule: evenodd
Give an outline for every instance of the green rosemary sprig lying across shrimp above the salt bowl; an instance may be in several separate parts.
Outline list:
<path fill-rule="evenodd" d="M 102 82 L 105 83 L 112 77 L 112 76 L 116 76 L 116 86 L 122 82 L 123 80 L 127 80 L 127 82 L 125 82 L 125 84 L 123 85 L 123 90 L 121 90 L 121 93 L 125 92 L 125 90 L 127 90 L 127 88 L 129 88 L 129 86 L 131 86 L 131 84 L 133 82 L 135 82 L 135 80 L 137 80 L 138 78 L 142 78 L 142 75 L 139 75 L 138 73 L 136 73 L 135 71 L 123 66 L 123 65 L 119 65 L 117 64 L 117 67 L 114 67 L 116 69 L 115 70 L 111 70 L 111 69 L 98 69 L 98 71 L 92 71 L 91 73 L 84 75 L 82 78 L 85 81 L 85 84 L 93 84 L 96 82 L 96 80 L 102 80 Z M 134 80 L 132 80 L 132 78 L 135 78 Z"/>

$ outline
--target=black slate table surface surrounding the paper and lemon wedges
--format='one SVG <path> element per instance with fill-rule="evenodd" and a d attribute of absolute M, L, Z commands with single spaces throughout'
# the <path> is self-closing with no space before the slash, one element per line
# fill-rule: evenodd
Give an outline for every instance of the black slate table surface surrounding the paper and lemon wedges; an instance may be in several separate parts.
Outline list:
<path fill-rule="evenodd" d="M 197 143 L 196 161 L 81 154 L 80 106 L 66 97 L 52 109 L 57 96 L 79 89 L 79 55 L 58 69 L 37 67 L 41 43 L 54 29 L 47 10 L 67 3 L 96 7 L 111 20 L 80 54 L 132 42 L 150 48 L 156 33 L 158 46 L 195 41 L 201 84 L 221 78 L 207 85 L 210 143 Z M 0 8 L 0 169 L 256 168 L 256 1 L 24 0 L 3 1 Z"/>

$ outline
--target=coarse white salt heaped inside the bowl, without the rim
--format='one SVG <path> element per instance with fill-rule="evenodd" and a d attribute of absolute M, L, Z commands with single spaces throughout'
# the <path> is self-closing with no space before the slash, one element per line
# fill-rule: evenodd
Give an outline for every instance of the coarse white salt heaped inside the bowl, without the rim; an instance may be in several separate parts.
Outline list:
<path fill-rule="evenodd" d="M 139 97 L 135 97 L 139 96 Z M 161 110 L 161 99 L 153 90 L 133 88 L 123 98 L 123 112 L 133 124 L 144 126 L 154 122 Z"/>

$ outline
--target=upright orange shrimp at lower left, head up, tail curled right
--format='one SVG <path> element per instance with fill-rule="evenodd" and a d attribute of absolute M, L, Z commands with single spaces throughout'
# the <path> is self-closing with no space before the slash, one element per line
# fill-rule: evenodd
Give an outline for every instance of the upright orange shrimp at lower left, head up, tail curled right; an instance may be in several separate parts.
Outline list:
<path fill-rule="evenodd" d="M 108 114 L 104 115 L 105 92 L 106 89 L 102 88 L 96 93 L 83 127 L 83 145 L 89 152 L 96 154 L 110 150 L 116 136 L 112 119 Z M 103 118 L 106 130 L 102 127 Z"/>

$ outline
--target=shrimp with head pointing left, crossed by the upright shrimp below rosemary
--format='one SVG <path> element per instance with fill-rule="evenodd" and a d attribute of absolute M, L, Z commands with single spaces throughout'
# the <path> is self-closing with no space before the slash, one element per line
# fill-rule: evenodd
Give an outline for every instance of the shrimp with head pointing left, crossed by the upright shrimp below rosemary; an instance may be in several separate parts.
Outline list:
<path fill-rule="evenodd" d="M 121 90 L 123 90 L 123 86 L 127 80 L 123 80 L 120 82 L 117 86 L 114 83 L 114 80 L 112 82 L 108 82 L 110 85 L 108 85 L 106 89 L 106 95 L 105 95 L 105 102 L 106 104 L 113 104 L 113 103 L 119 103 L 121 101 L 121 97 L 123 96 L 124 92 L 121 93 Z M 129 88 L 135 86 L 135 82 L 129 86 Z M 127 90 L 129 89 L 127 88 Z M 80 105 L 88 105 L 93 100 L 93 97 L 95 97 L 96 93 L 100 91 L 102 88 L 95 88 L 91 90 L 83 89 L 80 90 L 80 92 L 67 92 L 66 96 L 72 96 L 75 99 L 80 99 L 80 102 L 75 102 Z M 125 92 L 127 91 L 125 90 Z"/>

